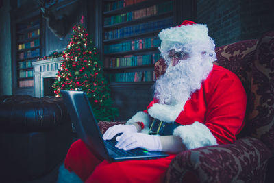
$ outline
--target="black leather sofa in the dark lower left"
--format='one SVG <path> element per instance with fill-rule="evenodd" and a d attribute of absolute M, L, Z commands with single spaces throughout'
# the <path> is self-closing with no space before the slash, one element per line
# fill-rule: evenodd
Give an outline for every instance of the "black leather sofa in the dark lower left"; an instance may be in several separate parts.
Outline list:
<path fill-rule="evenodd" d="M 45 177 L 70 145 L 71 119 L 62 98 L 0 97 L 0 182 Z"/>

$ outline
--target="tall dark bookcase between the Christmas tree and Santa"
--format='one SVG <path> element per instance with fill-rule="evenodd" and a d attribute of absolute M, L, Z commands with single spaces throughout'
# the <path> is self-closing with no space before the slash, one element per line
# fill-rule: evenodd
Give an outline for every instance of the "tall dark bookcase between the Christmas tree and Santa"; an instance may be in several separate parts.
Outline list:
<path fill-rule="evenodd" d="M 118 121 L 145 110 L 153 98 L 154 64 L 160 58 L 162 29 L 174 25 L 177 0 L 104 0 L 99 21 L 99 47 L 110 82 Z"/>

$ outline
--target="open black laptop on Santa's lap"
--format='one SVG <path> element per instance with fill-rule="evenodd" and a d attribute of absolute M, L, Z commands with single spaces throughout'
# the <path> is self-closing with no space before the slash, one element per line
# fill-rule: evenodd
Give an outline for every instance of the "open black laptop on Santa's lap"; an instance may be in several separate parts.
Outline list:
<path fill-rule="evenodd" d="M 103 140 L 86 93 L 82 91 L 60 91 L 64 97 L 64 104 L 69 110 L 71 120 L 75 125 L 77 136 L 84 141 L 95 156 L 108 160 L 108 162 L 149 160 L 169 156 L 169 154 L 161 151 L 147 151 L 142 148 L 129 151 L 116 148 L 116 136 L 111 140 Z"/>

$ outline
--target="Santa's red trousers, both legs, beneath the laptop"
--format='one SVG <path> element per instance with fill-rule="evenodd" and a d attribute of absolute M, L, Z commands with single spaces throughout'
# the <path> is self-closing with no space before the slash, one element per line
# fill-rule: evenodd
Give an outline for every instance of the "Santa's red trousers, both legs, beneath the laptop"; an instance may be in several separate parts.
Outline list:
<path fill-rule="evenodd" d="M 131 160 L 109 163 L 98 160 L 82 140 L 75 141 L 64 162 L 85 182 L 162 182 L 175 154 L 156 160 Z"/>

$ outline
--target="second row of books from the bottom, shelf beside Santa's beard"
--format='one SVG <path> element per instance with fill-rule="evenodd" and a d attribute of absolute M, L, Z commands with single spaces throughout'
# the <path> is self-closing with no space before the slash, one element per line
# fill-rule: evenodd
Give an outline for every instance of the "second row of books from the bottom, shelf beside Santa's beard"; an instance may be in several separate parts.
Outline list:
<path fill-rule="evenodd" d="M 105 58 L 105 66 L 108 68 L 120 66 L 140 66 L 147 64 L 155 64 L 160 58 L 160 53 L 153 53 L 142 56 L 124 56 L 123 58 Z"/>

